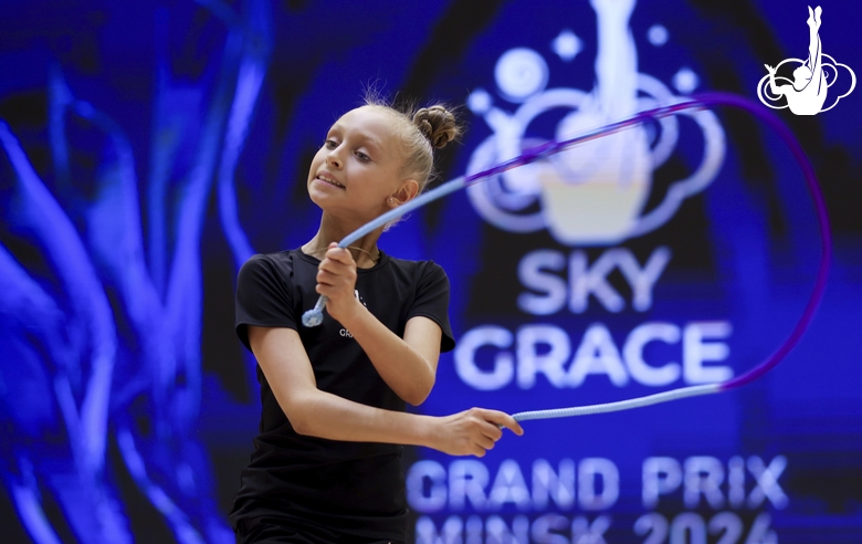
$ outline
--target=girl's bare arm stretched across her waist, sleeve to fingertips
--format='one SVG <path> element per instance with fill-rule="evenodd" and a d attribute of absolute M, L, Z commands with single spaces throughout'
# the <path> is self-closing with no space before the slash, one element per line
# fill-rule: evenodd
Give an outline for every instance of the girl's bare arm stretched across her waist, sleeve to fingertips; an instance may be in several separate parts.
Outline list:
<path fill-rule="evenodd" d="M 503 435 L 524 431 L 512 416 L 472 408 L 446 417 L 374 408 L 317 388 L 299 334 L 286 327 L 249 326 L 254 356 L 294 430 L 351 442 L 425 446 L 452 456 L 483 457 Z"/>

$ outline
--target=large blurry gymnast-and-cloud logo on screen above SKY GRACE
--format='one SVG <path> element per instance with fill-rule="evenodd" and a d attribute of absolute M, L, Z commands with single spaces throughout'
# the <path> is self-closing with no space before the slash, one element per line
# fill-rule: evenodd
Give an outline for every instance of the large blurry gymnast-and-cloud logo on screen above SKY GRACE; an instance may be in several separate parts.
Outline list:
<path fill-rule="evenodd" d="M 509 113 L 495 105 L 488 92 L 471 93 L 467 106 L 484 117 L 493 134 L 473 150 L 467 174 L 517 157 L 525 148 L 551 138 L 570 138 L 638 111 L 684 100 L 638 70 L 629 27 L 634 4 L 635 0 L 590 1 L 598 27 L 591 91 L 546 88 L 548 64 L 532 49 L 515 48 L 500 57 L 494 70 L 500 95 L 517 107 Z M 660 24 L 648 32 L 656 48 L 667 38 Z M 582 49 L 571 30 L 564 30 L 551 42 L 554 53 L 567 63 Z M 680 93 L 691 93 L 698 84 L 697 75 L 683 66 L 673 84 Z M 684 128 L 680 125 L 687 122 L 682 118 L 694 123 Z M 694 163 L 696 168 L 671 184 L 661 202 L 644 212 L 653 172 L 673 155 L 680 133 L 691 130 L 692 125 L 703 135 L 700 165 Z M 724 153 L 724 130 L 716 116 L 709 111 L 684 112 L 654 126 L 623 130 L 494 176 L 471 186 L 467 196 L 486 221 L 509 232 L 547 228 L 567 245 L 614 244 L 664 224 L 683 200 L 712 182 Z"/>

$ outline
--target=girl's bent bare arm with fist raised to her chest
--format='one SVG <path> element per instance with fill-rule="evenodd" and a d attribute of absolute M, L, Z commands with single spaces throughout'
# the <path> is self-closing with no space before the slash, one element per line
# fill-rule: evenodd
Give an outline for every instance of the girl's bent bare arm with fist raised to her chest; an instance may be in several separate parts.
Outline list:
<path fill-rule="evenodd" d="M 440 357 L 440 326 L 428 317 L 412 317 L 400 338 L 354 295 L 356 262 L 350 252 L 330 247 L 317 272 L 317 292 L 329 300 L 329 315 L 350 331 L 380 377 L 404 401 L 422 404 L 434 386 Z"/>

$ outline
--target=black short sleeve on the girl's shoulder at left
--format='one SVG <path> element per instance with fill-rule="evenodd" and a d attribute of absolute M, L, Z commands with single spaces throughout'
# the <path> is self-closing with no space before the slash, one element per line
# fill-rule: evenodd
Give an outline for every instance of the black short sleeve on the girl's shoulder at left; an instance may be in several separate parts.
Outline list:
<path fill-rule="evenodd" d="M 235 327 L 236 335 L 249 351 L 249 325 L 297 328 L 287 281 L 266 255 L 253 255 L 240 269 Z"/>

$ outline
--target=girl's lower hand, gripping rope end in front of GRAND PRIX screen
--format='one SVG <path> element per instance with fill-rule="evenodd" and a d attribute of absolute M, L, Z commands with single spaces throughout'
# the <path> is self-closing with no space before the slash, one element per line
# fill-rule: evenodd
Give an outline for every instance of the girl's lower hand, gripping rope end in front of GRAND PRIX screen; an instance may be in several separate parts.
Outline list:
<path fill-rule="evenodd" d="M 502 427 L 517 436 L 524 435 L 524 429 L 508 414 L 471 408 L 437 418 L 431 447 L 450 456 L 485 457 L 485 452 L 503 437 Z"/>

